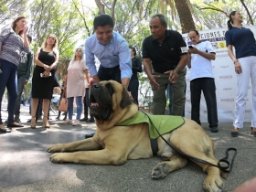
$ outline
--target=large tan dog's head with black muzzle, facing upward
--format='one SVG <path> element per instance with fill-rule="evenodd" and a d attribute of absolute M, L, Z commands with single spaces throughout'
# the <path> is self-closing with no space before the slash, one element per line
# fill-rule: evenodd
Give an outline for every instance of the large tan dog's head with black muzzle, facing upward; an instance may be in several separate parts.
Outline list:
<path fill-rule="evenodd" d="M 118 123 L 123 115 L 129 114 L 132 105 L 128 91 L 117 81 L 101 81 L 91 86 L 90 110 L 98 127 L 101 123 Z"/>

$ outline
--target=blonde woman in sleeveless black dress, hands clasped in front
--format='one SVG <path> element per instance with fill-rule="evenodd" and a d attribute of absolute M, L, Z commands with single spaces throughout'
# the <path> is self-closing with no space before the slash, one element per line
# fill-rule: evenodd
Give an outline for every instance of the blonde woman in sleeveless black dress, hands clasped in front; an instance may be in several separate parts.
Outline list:
<path fill-rule="evenodd" d="M 48 35 L 41 48 L 37 48 L 32 79 L 31 128 L 36 128 L 36 112 L 39 99 L 43 99 L 43 123 L 49 128 L 48 107 L 52 98 L 54 76 L 59 61 L 58 40 Z"/>

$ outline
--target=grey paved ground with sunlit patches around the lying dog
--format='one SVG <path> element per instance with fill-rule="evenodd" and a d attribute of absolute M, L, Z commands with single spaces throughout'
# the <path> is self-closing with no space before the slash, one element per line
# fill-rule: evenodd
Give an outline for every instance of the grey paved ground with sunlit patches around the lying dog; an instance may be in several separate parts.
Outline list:
<path fill-rule="evenodd" d="M 6 106 L 2 105 L 3 119 Z M 33 130 L 26 123 L 30 118 L 28 107 L 21 106 L 21 121 L 24 128 L 12 129 L 12 133 L 0 134 L 0 191 L 91 191 L 91 192 L 133 192 L 172 191 L 201 192 L 206 173 L 193 163 L 169 174 L 165 179 L 152 180 L 151 170 L 161 161 L 159 157 L 130 160 L 125 165 L 74 165 L 53 164 L 49 161 L 46 148 L 49 144 L 68 143 L 84 138 L 85 133 L 95 130 L 94 123 L 82 123 L 80 127 L 59 124 L 51 115 L 51 128 L 37 123 Z M 63 116 L 62 116 L 63 118 Z M 256 137 L 250 134 L 250 123 L 240 131 L 240 137 L 230 137 L 231 123 L 220 123 L 219 133 L 206 132 L 216 144 L 218 159 L 225 156 L 229 147 L 238 150 L 233 170 L 225 180 L 223 191 L 233 191 L 246 180 L 256 176 Z"/>

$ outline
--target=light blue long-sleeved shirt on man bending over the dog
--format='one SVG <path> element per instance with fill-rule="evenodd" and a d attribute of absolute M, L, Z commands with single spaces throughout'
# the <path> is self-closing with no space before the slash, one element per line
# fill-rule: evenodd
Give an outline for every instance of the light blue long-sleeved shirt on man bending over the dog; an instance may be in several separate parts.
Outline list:
<path fill-rule="evenodd" d="M 107 45 L 102 45 L 93 34 L 85 41 L 86 65 L 91 76 L 97 75 L 95 58 L 99 59 L 104 68 L 113 68 L 119 65 L 121 69 L 121 79 L 132 76 L 131 52 L 127 41 L 118 33 L 113 32 L 112 40 Z"/>

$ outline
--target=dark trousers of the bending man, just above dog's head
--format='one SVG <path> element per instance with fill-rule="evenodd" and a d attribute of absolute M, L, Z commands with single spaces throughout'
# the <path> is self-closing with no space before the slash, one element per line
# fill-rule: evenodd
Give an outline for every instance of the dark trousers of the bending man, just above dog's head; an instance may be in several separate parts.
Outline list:
<path fill-rule="evenodd" d="M 121 70 L 119 69 L 119 65 L 113 68 L 100 66 L 98 76 L 100 80 L 115 80 L 121 83 Z"/>

